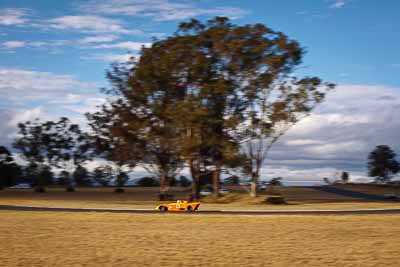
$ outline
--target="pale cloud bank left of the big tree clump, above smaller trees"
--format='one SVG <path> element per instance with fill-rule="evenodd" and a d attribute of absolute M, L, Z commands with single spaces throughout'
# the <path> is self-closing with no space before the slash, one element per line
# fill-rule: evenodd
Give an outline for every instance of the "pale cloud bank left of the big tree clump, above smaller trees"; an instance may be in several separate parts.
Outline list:
<path fill-rule="evenodd" d="M 9 145 L 19 122 L 67 116 L 85 126 L 84 112 L 104 103 L 99 85 L 71 75 L 0 68 L 1 143 Z"/>

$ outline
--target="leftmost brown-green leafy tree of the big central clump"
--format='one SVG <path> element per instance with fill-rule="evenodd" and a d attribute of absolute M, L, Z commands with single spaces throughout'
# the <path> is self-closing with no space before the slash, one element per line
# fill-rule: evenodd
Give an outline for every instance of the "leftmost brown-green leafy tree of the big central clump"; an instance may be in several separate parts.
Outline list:
<path fill-rule="evenodd" d="M 113 97 L 100 111 L 87 117 L 103 144 L 105 157 L 119 166 L 138 164 L 156 176 L 162 199 L 167 194 L 169 179 L 183 167 L 177 129 L 166 113 L 171 112 L 171 103 L 176 101 L 172 92 L 153 92 L 148 85 L 140 86 L 136 73 L 130 73 L 127 66 L 130 62 L 114 66 L 107 73 L 112 84 L 108 93 Z"/>

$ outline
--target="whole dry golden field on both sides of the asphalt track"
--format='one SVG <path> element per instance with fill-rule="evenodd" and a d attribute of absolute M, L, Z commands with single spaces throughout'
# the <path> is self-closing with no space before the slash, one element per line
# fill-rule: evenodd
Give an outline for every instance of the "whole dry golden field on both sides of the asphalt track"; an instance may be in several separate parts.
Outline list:
<path fill-rule="evenodd" d="M 239 187 L 202 210 L 400 208 L 311 188 L 277 187 L 288 205 Z M 382 188 L 353 188 L 385 193 Z M 387 190 L 393 190 L 389 188 Z M 171 188 L 184 199 L 188 190 Z M 151 209 L 157 188 L 0 191 L 0 205 Z M 248 216 L 0 211 L 0 266 L 398 266 L 400 215 Z"/>

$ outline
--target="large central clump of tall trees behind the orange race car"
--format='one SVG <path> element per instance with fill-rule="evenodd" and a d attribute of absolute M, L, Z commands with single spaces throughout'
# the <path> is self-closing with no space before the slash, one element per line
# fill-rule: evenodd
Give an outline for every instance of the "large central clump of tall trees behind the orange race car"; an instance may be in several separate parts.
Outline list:
<path fill-rule="evenodd" d="M 103 140 L 117 140 L 119 155 L 135 151 L 161 191 L 184 163 L 195 197 L 210 173 L 214 187 L 224 169 L 258 179 L 272 144 L 333 88 L 290 76 L 303 54 L 298 42 L 262 24 L 193 19 L 142 48 L 138 61 L 114 65 L 107 73 L 112 97 L 88 118 Z"/>

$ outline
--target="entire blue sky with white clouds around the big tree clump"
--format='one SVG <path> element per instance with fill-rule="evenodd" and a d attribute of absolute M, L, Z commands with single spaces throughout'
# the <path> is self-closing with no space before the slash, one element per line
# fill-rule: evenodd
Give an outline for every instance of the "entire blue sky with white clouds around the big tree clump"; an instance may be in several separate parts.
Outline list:
<path fill-rule="evenodd" d="M 35 117 L 82 113 L 104 101 L 105 69 L 189 18 L 264 23 L 307 50 L 297 75 L 338 84 L 272 149 L 264 177 L 366 173 L 376 145 L 400 153 L 400 2 L 397 0 L 2 0 L 0 143 Z"/>

